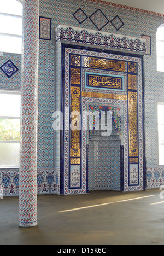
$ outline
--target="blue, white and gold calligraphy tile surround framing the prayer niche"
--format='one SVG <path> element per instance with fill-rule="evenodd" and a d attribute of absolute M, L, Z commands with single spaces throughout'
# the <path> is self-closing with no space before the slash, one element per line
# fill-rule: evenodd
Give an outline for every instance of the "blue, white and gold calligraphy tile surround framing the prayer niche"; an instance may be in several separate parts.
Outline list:
<path fill-rule="evenodd" d="M 89 112 L 89 110 L 92 110 L 93 112 L 101 112 L 102 109 L 104 111 L 108 111 L 109 109 L 112 111 L 112 117 L 114 119 L 113 124 L 116 124 L 115 132 L 116 134 L 118 133 L 119 135 L 122 135 L 121 143 L 125 149 L 124 190 L 130 191 L 145 189 L 143 154 L 144 150 L 142 143 L 142 56 L 131 56 L 128 54 L 127 56 L 125 56 L 125 54 L 118 55 L 113 54 L 113 52 L 110 53 L 109 51 L 99 51 L 98 49 L 90 50 L 84 45 L 84 48 L 81 45 L 82 48 L 78 49 L 76 49 L 74 45 L 70 44 L 68 45 L 58 43 L 57 46 L 58 45 L 61 45 L 62 49 L 61 60 L 63 65 L 63 72 L 61 81 L 63 88 L 62 95 L 64 95 L 63 106 L 65 108 L 68 108 L 70 106 L 71 110 L 75 109 L 79 111 L 81 105 L 81 111 L 83 111 L 83 113 L 85 111 Z M 74 72 L 77 72 L 79 75 L 76 75 L 74 77 Z M 87 74 L 92 75 L 92 82 L 98 82 L 98 87 L 93 88 L 93 86 L 91 85 L 87 86 L 89 85 Z M 112 75 L 115 75 L 115 78 Z M 107 78 L 105 80 L 106 82 L 108 82 L 106 84 L 107 87 L 110 85 L 112 88 L 103 88 L 99 76 L 102 76 L 103 79 L 105 76 Z M 95 80 L 95 77 L 98 77 L 98 80 Z M 110 79 L 108 80 L 109 77 Z M 114 83 L 112 82 L 112 78 L 114 78 Z M 124 81 L 124 86 L 122 84 L 122 88 L 121 79 L 122 82 Z M 118 86 L 118 88 L 115 88 L 116 85 Z M 81 104 L 80 94 L 82 96 Z M 119 124 L 119 117 L 121 117 L 122 119 L 121 124 Z M 84 123 L 82 126 L 86 127 L 85 125 L 87 124 L 87 121 L 84 119 L 83 121 Z M 76 124 L 76 126 L 78 126 L 78 124 Z M 89 177 L 92 176 L 91 173 L 93 173 L 93 169 L 90 168 L 92 165 L 90 164 L 90 132 L 87 129 L 82 128 L 80 136 L 79 130 L 76 131 L 76 133 L 72 133 L 72 131 L 69 132 L 65 128 L 66 126 L 64 126 L 64 131 L 61 136 L 61 139 L 63 138 L 63 141 L 60 141 L 60 145 L 63 146 L 61 155 L 64 160 L 63 166 L 63 161 L 61 161 L 62 189 L 60 190 L 60 193 L 65 195 L 83 194 L 87 191 L 87 145 L 89 145 Z M 104 146 L 106 145 L 106 149 L 103 151 L 102 154 L 105 154 L 105 152 L 107 153 L 109 151 L 107 148 L 109 148 L 108 146 L 110 143 L 108 143 L 109 142 L 107 142 L 107 140 L 105 141 L 105 143 L 101 141 L 101 144 L 104 144 Z M 112 143 L 113 146 L 116 145 L 114 141 L 112 141 Z M 101 154 L 100 147 L 97 147 L 96 150 Z M 94 156 L 92 156 L 92 160 L 93 158 Z M 118 153 L 115 155 L 114 161 L 116 158 L 117 161 L 120 162 L 120 155 Z M 78 162 L 72 162 L 72 160 L 77 160 Z M 102 158 L 101 160 L 103 161 Z M 99 154 L 96 153 L 95 161 L 97 161 L 97 165 L 98 161 L 101 162 L 101 160 L 99 161 Z M 114 170 L 116 170 L 117 167 L 115 168 L 113 165 L 112 169 L 115 173 L 115 176 L 113 177 L 113 180 L 111 179 L 110 183 L 108 183 L 108 189 L 119 190 L 120 188 L 121 180 L 118 173 L 120 173 L 121 170 L 118 164 L 116 166 L 118 167 L 118 170 L 117 172 L 115 172 Z M 101 178 L 107 178 L 106 174 L 102 173 Z M 78 182 L 74 182 L 75 179 Z M 116 183 L 115 179 L 117 180 Z M 93 182 L 91 183 L 93 184 Z M 99 189 L 103 189 L 104 184 L 101 184 L 102 187 L 99 187 Z M 94 186 L 91 185 L 91 187 Z"/>

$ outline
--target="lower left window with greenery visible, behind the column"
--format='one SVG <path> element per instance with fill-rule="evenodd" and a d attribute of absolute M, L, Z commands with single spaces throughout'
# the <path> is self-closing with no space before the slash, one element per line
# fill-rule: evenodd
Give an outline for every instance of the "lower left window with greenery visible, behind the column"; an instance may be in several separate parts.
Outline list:
<path fill-rule="evenodd" d="M 19 168 L 20 94 L 0 91 L 0 168 Z"/>

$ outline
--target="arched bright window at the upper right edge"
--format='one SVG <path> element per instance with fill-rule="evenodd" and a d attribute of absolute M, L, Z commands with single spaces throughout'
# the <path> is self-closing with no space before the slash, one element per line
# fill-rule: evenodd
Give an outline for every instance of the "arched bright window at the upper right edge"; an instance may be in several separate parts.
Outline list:
<path fill-rule="evenodd" d="M 156 33 L 157 48 L 157 71 L 164 72 L 164 24 L 162 24 Z"/>

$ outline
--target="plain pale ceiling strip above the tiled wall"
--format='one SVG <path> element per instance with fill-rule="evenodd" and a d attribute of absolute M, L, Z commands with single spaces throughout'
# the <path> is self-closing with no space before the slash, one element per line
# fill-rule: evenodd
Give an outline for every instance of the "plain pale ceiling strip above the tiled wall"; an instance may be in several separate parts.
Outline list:
<path fill-rule="evenodd" d="M 103 0 L 110 3 L 122 4 L 129 7 L 139 8 L 155 13 L 164 14 L 164 1 L 163 0 Z"/>

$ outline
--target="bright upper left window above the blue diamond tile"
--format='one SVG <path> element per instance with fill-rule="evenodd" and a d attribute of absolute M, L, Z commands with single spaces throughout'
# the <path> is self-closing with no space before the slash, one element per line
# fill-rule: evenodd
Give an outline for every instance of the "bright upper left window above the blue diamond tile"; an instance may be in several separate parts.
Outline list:
<path fill-rule="evenodd" d="M 21 54 L 22 4 L 0 0 L 0 52 Z"/>

